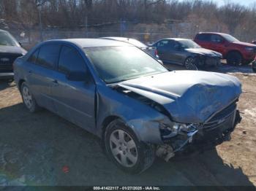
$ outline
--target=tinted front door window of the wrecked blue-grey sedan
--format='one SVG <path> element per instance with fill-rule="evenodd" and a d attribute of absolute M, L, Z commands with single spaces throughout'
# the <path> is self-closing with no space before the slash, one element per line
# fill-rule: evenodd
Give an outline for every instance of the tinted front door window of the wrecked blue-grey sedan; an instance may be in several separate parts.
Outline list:
<path fill-rule="evenodd" d="M 59 71 L 64 74 L 70 71 L 86 71 L 86 63 L 77 50 L 72 47 L 63 46 L 59 58 Z"/>

